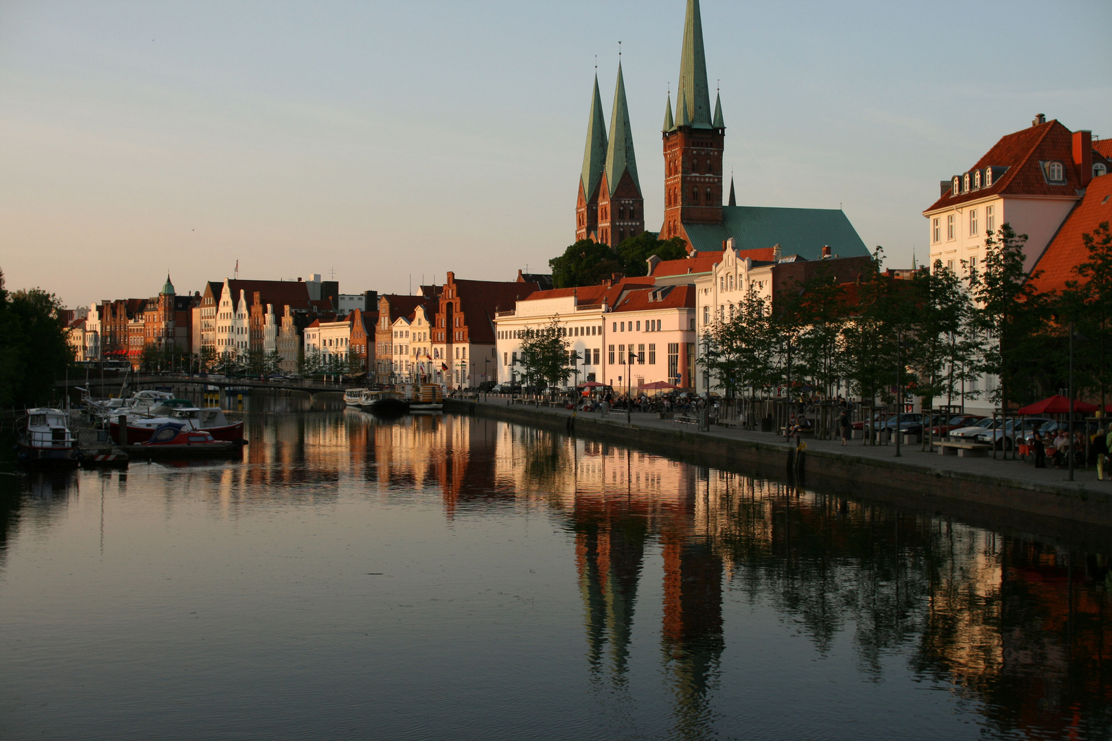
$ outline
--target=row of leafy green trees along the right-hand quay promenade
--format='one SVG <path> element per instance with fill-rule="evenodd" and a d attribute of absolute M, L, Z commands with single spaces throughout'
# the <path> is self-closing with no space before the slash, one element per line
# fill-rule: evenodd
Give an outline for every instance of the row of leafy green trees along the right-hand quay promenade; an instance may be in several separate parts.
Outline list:
<path fill-rule="evenodd" d="M 718 317 L 701 337 L 699 362 L 727 405 L 755 427 L 757 402 L 811 391 L 826 400 L 840 390 L 878 403 L 919 397 L 935 401 L 985 394 L 1004 413 L 1071 385 L 1108 403 L 1112 382 L 1112 234 L 1108 222 L 1083 237 L 1088 260 L 1059 291 L 1040 292 L 1024 269 L 1025 234 L 1010 224 L 985 240 L 984 261 L 959 277 L 941 261 L 910 279 L 882 270 L 877 248 L 861 280 L 837 284 L 828 272 L 797 283 L 773 306 L 751 288 L 732 317 Z M 973 390 L 982 374 L 999 378 Z M 729 402 L 728 400 L 735 400 Z"/>

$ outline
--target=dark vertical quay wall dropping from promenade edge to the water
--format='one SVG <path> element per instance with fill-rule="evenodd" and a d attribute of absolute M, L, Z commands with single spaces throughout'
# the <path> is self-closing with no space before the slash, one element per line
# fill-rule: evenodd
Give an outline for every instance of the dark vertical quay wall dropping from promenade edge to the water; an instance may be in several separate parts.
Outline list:
<path fill-rule="evenodd" d="M 573 418 L 534 407 L 448 399 L 445 410 L 620 441 L 684 462 L 734 468 L 768 479 L 787 478 L 794 455 L 793 444 L 772 440 L 738 440 L 694 429 L 659 429 L 592 414 Z M 873 499 L 993 527 L 1112 544 L 1112 488 L 1101 492 L 1055 487 L 814 448 L 803 459 L 800 483 L 826 494 Z"/>

